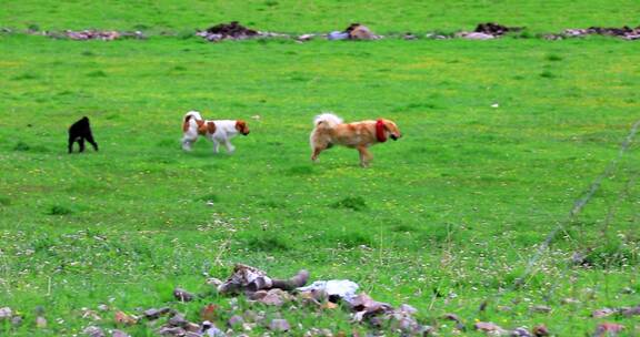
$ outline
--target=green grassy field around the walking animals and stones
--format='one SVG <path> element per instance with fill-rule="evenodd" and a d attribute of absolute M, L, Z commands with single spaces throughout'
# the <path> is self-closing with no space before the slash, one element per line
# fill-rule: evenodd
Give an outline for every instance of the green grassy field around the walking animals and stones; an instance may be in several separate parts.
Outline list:
<path fill-rule="evenodd" d="M 81 1 L 38 4 L 3 4 L 0 25 L 182 30 L 242 12 L 260 29 L 322 31 L 367 19 L 390 32 L 501 22 L 489 13 L 510 6 L 467 4 L 439 16 L 444 9 L 406 13 L 388 3 L 358 16 L 364 3 L 340 2 L 326 6 L 347 9 L 331 16 L 320 4 L 216 11 L 216 3 L 193 1 L 201 14 L 170 6 L 152 12 L 150 6 L 133 7 L 128 17 L 120 16 L 123 6 L 106 6 L 71 19 L 62 13 L 79 10 Z M 501 13 L 504 23 L 540 31 L 637 18 L 623 10 L 630 2 L 607 17 L 591 4 L 562 17 L 550 12 L 586 4 L 553 2 L 530 12 L 524 9 L 536 6 L 529 3 Z M 291 12 L 301 12 L 299 20 L 286 22 Z M 172 37 L 77 42 L 0 35 L 0 307 L 24 317 L 17 328 L 0 321 L 0 335 L 78 334 L 91 324 L 81 317 L 83 307 L 159 307 L 172 300 L 176 286 L 204 292 L 204 279 L 224 278 L 233 263 L 274 276 L 308 268 L 312 279 L 356 280 L 379 300 L 413 305 L 443 336 L 453 334 L 438 319 L 444 313 L 468 324 L 543 323 L 558 336 L 591 333 L 603 321 L 588 318 L 591 310 L 640 304 L 637 143 L 566 223 L 640 116 L 636 44 L 599 38 L 211 44 Z M 233 140 L 233 155 L 213 155 L 206 141 L 184 153 L 181 118 L 191 109 L 244 119 L 251 134 Z M 341 147 L 311 164 L 311 120 L 322 111 L 347 121 L 386 116 L 404 137 L 373 147 L 370 168 Z M 68 155 L 67 127 L 82 115 L 91 118 L 101 150 Z M 564 231 L 527 274 L 559 224 Z M 591 265 L 568 267 L 574 252 L 589 252 Z M 522 276 L 527 283 L 514 288 Z M 580 303 L 561 305 L 568 297 Z M 196 319 L 210 302 L 230 306 L 217 296 L 172 306 Z M 552 313 L 532 313 L 534 305 Z M 46 329 L 34 328 L 37 306 L 46 309 Z M 97 324 L 112 327 L 112 313 Z M 304 328 L 351 331 L 341 313 L 283 315 Z M 637 318 L 604 320 L 639 334 Z M 144 336 L 154 328 L 127 330 Z M 296 327 L 292 335 L 303 331 Z"/>

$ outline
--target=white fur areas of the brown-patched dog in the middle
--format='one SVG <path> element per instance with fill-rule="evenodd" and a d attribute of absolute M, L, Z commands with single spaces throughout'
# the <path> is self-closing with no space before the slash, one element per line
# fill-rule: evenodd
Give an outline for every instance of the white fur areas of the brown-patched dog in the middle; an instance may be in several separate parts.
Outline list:
<path fill-rule="evenodd" d="M 182 150 L 191 151 L 191 145 L 198 140 L 198 123 L 196 119 L 202 120 L 202 115 L 198 111 L 189 111 L 182 118 L 182 121 L 187 116 L 191 115 L 189 120 L 189 129 L 182 135 Z M 213 142 L 213 153 L 220 152 L 220 144 L 224 144 L 227 147 L 227 153 L 231 154 L 236 151 L 236 146 L 231 144 L 231 139 L 238 135 L 238 130 L 236 129 L 236 122 L 233 120 L 204 120 L 204 122 L 213 122 L 216 124 L 216 132 L 213 134 L 207 133 L 203 135 L 206 139 Z"/>

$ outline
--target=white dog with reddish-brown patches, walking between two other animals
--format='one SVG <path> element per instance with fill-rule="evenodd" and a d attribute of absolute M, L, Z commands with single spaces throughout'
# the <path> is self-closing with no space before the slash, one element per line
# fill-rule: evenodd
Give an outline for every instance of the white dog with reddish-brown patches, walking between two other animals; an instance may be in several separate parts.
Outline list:
<path fill-rule="evenodd" d="M 203 120 L 198 111 L 189 111 L 182 119 L 182 150 L 191 151 L 191 145 L 196 143 L 198 136 L 204 136 L 213 142 L 213 152 L 218 153 L 220 144 L 224 144 L 227 153 L 233 153 L 236 147 L 231 144 L 231 139 L 238 133 L 249 134 L 247 122 L 241 120 Z"/>

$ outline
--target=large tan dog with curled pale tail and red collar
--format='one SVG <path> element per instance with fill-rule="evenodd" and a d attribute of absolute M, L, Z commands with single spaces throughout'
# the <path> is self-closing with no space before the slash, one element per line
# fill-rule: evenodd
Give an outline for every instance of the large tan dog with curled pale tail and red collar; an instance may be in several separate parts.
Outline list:
<path fill-rule="evenodd" d="M 360 153 L 360 165 L 367 167 L 373 159 L 369 146 L 384 143 L 388 137 L 396 141 L 402 136 L 396 123 L 384 119 L 343 123 L 339 116 L 323 113 L 313 119 L 313 125 L 310 136 L 313 162 L 318 160 L 320 152 L 338 144 L 357 149 Z"/>

